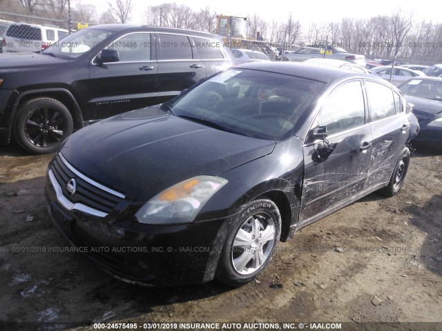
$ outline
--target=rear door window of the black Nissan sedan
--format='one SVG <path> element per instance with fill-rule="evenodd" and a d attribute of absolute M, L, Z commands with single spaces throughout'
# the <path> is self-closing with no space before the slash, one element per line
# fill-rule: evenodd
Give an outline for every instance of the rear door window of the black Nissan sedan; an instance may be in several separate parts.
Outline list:
<path fill-rule="evenodd" d="M 369 114 L 372 121 L 385 119 L 396 114 L 396 106 L 393 91 L 373 81 L 367 81 L 367 92 L 369 99 Z"/>

